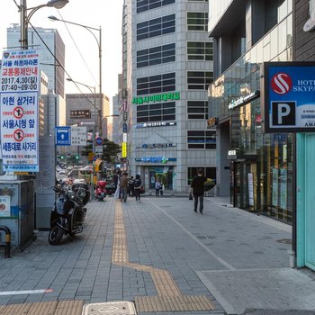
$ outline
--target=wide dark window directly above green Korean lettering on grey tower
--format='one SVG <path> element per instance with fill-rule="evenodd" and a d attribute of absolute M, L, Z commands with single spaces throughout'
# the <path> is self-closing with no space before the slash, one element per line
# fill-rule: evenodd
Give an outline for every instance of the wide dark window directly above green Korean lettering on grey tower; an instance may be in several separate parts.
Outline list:
<path fill-rule="evenodd" d="M 137 95 L 175 91 L 175 72 L 137 78 Z"/>

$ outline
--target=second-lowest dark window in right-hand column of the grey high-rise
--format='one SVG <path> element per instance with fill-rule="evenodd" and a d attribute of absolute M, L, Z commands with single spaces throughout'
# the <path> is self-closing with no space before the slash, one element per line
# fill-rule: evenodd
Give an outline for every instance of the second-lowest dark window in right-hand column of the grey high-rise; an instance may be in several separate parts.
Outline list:
<path fill-rule="evenodd" d="M 187 130 L 188 148 L 216 148 L 215 130 Z"/>

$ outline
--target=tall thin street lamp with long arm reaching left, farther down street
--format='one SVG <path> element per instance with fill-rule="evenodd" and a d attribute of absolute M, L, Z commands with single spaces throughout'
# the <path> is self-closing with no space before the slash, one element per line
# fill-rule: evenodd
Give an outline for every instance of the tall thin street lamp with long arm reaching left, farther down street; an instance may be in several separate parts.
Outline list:
<path fill-rule="evenodd" d="M 96 40 L 97 42 L 97 46 L 98 46 L 98 58 L 99 58 L 99 97 L 100 97 L 100 104 L 99 104 L 99 116 L 98 116 L 98 122 L 97 122 L 97 125 L 98 125 L 98 130 L 99 130 L 99 133 L 101 135 L 101 137 L 103 137 L 103 134 L 102 134 L 102 113 L 103 113 L 103 98 L 102 98 L 102 29 L 101 29 L 101 26 L 99 29 L 96 29 L 94 27 L 91 27 L 91 26 L 86 26 L 84 24 L 79 24 L 79 23 L 74 23 L 74 22 L 69 22 L 69 21 L 65 21 L 65 20 L 61 20 L 61 19 L 58 19 L 58 17 L 56 16 L 49 16 L 49 20 L 50 21 L 59 21 L 59 22 L 63 22 L 63 23 L 69 23 L 69 24 L 73 24 L 73 25 L 76 25 L 76 26 L 81 26 L 81 27 L 84 27 L 85 30 L 89 31 L 94 39 Z M 94 32 L 93 31 L 99 31 L 99 39 L 97 40 L 97 37 L 95 36 Z"/>

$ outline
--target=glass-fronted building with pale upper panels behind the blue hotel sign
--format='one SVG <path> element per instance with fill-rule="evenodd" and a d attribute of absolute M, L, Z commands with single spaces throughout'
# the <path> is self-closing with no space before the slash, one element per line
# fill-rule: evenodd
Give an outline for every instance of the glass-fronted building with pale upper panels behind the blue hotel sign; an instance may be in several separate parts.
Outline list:
<path fill-rule="evenodd" d="M 263 63 L 293 60 L 292 0 L 210 2 L 215 78 L 209 117 L 217 130 L 217 193 L 242 209 L 293 219 L 293 135 L 266 134 Z M 218 18 L 218 16 L 220 18 Z"/>

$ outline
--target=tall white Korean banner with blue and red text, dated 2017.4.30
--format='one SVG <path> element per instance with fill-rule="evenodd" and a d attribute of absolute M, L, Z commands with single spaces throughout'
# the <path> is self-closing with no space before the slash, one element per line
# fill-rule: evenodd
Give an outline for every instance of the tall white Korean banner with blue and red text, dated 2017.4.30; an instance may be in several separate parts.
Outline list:
<path fill-rule="evenodd" d="M 39 54 L 4 51 L 1 67 L 1 150 L 5 171 L 38 172 Z"/>

